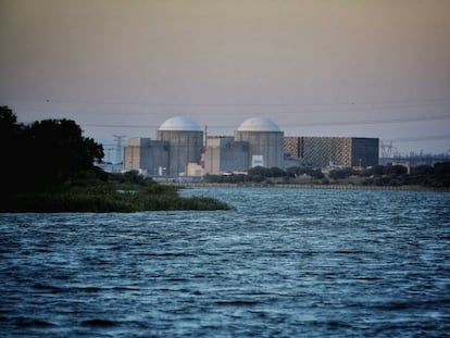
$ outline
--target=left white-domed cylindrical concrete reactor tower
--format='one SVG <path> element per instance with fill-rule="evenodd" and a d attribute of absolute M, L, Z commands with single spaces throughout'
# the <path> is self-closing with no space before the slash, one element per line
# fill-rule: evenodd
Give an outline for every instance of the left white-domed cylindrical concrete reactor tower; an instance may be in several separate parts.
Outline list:
<path fill-rule="evenodd" d="M 170 145 L 167 176 L 177 177 L 187 173 L 188 163 L 200 162 L 203 132 L 190 117 L 174 116 L 166 120 L 157 130 L 157 138 Z"/>

